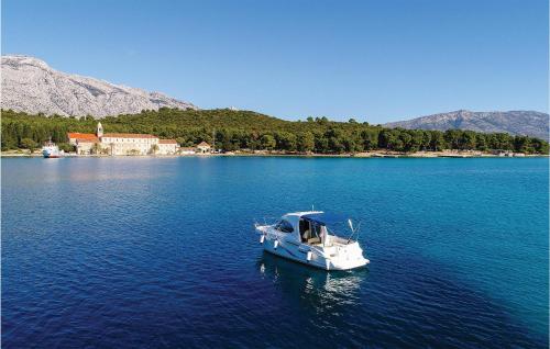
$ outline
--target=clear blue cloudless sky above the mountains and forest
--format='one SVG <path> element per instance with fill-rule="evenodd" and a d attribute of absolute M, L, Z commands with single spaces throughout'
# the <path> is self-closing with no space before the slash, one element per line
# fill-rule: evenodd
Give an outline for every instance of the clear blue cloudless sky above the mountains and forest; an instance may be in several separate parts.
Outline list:
<path fill-rule="evenodd" d="M 2 1 L 2 54 L 200 108 L 548 111 L 547 0 Z"/>

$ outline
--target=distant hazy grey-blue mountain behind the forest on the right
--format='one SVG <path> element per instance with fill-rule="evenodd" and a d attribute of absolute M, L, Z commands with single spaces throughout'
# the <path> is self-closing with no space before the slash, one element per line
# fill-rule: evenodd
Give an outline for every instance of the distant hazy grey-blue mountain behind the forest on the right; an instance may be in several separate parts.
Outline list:
<path fill-rule="evenodd" d="M 471 112 L 459 110 L 387 123 L 384 126 L 439 131 L 460 128 L 486 133 L 506 132 L 548 140 L 548 114 L 535 111 Z"/>

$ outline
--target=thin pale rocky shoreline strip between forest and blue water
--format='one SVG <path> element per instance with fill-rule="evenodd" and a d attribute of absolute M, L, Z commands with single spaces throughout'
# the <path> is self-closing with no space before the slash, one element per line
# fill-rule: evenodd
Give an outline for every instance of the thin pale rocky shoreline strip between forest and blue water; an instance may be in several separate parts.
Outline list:
<path fill-rule="evenodd" d="M 0 158 L 42 158 L 42 154 L 28 153 L 6 153 L 0 154 Z M 397 153 L 397 151 L 367 151 L 355 154 L 285 154 L 285 153 L 224 153 L 224 154 L 176 154 L 176 155 L 76 155 L 66 154 L 64 158 L 179 158 L 179 157 L 302 157 L 302 158 L 534 158 L 546 157 L 548 154 L 488 154 L 481 151 L 417 151 L 417 153 Z"/>

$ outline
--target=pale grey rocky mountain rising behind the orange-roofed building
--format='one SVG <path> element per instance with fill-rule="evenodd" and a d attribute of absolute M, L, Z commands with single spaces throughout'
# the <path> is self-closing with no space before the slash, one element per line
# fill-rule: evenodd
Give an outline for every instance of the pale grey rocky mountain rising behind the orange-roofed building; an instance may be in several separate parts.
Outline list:
<path fill-rule="evenodd" d="M 160 92 L 57 71 L 29 56 L 2 56 L 1 108 L 46 115 L 98 117 L 158 110 L 197 109 Z"/>

